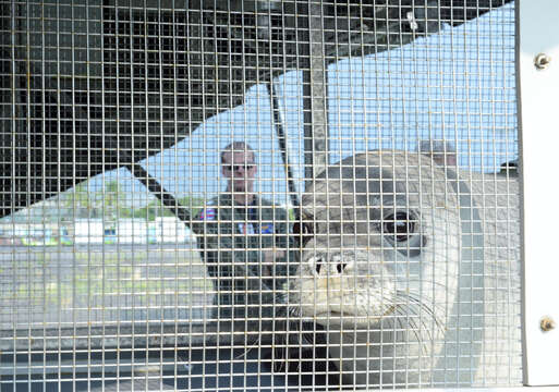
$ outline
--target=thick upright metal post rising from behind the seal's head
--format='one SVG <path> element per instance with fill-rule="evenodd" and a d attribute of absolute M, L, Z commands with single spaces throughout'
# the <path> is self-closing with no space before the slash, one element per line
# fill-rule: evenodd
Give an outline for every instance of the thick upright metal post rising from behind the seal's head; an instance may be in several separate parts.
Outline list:
<path fill-rule="evenodd" d="M 328 166 L 328 77 L 323 2 L 308 2 L 308 70 L 303 71 L 305 186 Z"/>

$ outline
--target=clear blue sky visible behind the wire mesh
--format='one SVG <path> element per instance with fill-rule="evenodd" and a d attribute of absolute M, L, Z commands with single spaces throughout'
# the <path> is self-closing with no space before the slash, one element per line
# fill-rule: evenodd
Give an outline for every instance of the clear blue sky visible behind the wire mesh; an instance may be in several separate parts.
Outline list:
<path fill-rule="evenodd" d="M 402 48 L 331 64 L 330 161 L 367 149 L 414 150 L 424 138 L 453 143 L 459 164 L 474 171 L 495 172 L 518 158 L 513 21 L 509 4 Z M 289 72 L 275 83 L 301 192 L 302 72 Z M 243 106 L 208 119 L 190 137 L 143 164 L 175 197 L 209 199 L 224 188 L 219 150 L 236 139 L 258 151 L 258 192 L 287 203 L 284 166 L 264 85 L 248 89 Z M 134 206 L 153 199 L 125 169 L 99 175 L 90 188 L 113 179 Z"/>

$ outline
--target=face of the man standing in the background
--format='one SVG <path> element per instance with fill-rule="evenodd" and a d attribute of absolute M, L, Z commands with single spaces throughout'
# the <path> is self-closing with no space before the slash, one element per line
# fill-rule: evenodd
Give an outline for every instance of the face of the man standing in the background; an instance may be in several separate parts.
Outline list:
<path fill-rule="evenodd" d="M 227 152 L 221 163 L 221 173 L 233 192 L 252 191 L 256 164 L 252 152 Z"/>

